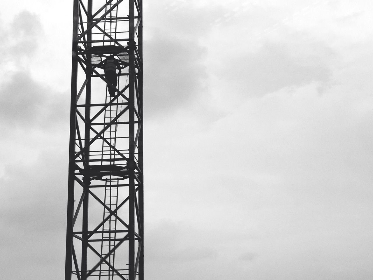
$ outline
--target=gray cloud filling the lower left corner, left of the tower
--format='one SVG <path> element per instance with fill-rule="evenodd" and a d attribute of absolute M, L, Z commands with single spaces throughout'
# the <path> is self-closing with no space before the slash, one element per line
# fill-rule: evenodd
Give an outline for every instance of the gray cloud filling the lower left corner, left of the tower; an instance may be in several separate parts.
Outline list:
<path fill-rule="evenodd" d="M 67 157 L 61 158 L 66 154 L 46 149 L 34 164 L 7 165 L 0 177 L 0 251 L 7 279 L 63 274 Z"/>

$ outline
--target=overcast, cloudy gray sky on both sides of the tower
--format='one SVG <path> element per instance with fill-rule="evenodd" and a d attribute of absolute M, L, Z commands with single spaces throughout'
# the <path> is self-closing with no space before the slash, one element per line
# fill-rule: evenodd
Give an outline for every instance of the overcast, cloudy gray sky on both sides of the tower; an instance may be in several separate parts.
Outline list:
<path fill-rule="evenodd" d="M 0 12 L 0 271 L 63 279 L 72 1 Z M 373 279 L 373 2 L 144 0 L 145 273 Z"/>

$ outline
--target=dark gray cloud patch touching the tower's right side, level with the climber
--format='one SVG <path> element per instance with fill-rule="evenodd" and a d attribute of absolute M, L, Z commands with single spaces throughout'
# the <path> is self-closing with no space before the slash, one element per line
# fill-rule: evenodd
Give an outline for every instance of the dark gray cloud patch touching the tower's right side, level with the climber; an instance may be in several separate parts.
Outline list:
<path fill-rule="evenodd" d="M 147 45 L 148 52 L 153 54 L 145 70 L 148 113 L 173 111 L 205 91 L 206 69 L 202 62 L 205 50 L 198 43 L 158 34 Z"/>

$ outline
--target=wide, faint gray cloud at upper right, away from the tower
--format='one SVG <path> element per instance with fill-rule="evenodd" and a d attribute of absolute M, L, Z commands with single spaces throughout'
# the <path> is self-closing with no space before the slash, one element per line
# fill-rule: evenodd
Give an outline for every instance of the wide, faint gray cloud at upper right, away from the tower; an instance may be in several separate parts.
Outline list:
<path fill-rule="evenodd" d="M 258 52 L 225 59 L 219 76 L 226 77 L 229 87 L 239 94 L 262 96 L 283 87 L 298 86 L 312 81 L 327 81 L 329 70 L 325 56 L 317 44 L 311 50 L 295 54 L 292 46 L 265 43 Z M 298 49 L 299 50 L 299 49 Z"/>

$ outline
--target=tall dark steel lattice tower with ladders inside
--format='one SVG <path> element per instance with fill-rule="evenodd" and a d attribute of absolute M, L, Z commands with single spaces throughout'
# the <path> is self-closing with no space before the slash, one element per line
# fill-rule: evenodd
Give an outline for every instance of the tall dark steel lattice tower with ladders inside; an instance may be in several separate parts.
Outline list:
<path fill-rule="evenodd" d="M 143 280 L 142 0 L 73 5 L 65 280 Z"/>

